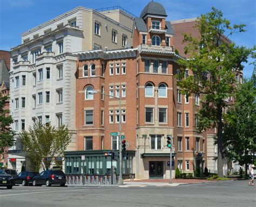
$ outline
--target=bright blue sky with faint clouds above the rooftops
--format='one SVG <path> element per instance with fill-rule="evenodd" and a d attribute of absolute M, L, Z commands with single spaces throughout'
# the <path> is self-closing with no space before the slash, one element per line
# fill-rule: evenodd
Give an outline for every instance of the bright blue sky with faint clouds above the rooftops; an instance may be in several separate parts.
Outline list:
<path fill-rule="evenodd" d="M 256 0 L 155 0 L 167 12 L 167 20 L 198 17 L 220 9 L 232 24 L 246 24 L 245 33 L 234 34 L 230 39 L 238 45 L 253 47 L 256 44 Z M 21 44 L 21 34 L 47 20 L 77 6 L 91 9 L 121 6 L 139 16 L 149 0 L 103 1 L 103 0 L 0 0 L 0 50 Z M 249 61 L 252 61 L 251 59 Z M 244 75 L 251 77 L 253 66 L 244 64 Z"/>

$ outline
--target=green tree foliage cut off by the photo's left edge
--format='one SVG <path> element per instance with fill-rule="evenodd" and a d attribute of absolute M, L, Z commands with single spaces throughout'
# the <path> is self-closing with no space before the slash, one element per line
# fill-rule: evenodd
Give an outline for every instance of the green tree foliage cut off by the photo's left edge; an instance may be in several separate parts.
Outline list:
<path fill-rule="evenodd" d="M 0 153 L 4 154 L 5 147 L 14 146 L 14 131 L 10 128 L 10 125 L 14 120 L 12 120 L 11 115 L 9 115 L 9 110 L 4 108 L 4 105 L 8 100 L 8 96 L 3 96 L 0 93 Z"/>

